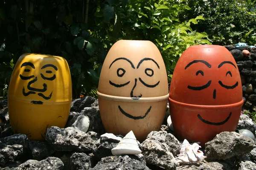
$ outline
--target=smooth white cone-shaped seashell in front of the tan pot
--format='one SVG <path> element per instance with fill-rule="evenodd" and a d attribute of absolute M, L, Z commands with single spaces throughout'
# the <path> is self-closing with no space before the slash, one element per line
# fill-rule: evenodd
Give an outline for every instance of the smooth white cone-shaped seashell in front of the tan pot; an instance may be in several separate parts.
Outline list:
<path fill-rule="evenodd" d="M 141 150 L 133 131 L 131 130 L 127 133 L 127 135 L 111 150 L 111 152 L 114 156 L 140 154 Z"/>

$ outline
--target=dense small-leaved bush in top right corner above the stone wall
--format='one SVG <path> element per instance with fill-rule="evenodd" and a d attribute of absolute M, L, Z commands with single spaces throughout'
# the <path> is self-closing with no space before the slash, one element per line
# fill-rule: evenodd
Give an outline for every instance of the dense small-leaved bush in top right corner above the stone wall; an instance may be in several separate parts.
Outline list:
<path fill-rule="evenodd" d="M 229 45 L 256 42 L 255 1 L 252 0 L 189 0 L 192 10 L 183 13 L 182 18 L 193 18 L 203 14 L 205 20 L 192 26 L 205 31 L 213 44 Z"/>

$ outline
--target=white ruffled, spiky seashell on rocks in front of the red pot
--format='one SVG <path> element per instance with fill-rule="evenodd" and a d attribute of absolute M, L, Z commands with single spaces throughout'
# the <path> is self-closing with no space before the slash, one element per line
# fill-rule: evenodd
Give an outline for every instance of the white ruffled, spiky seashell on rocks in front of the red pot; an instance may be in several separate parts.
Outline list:
<path fill-rule="evenodd" d="M 177 163 L 194 164 L 202 161 L 206 156 L 199 150 L 200 147 L 198 143 L 189 144 L 189 142 L 184 139 L 180 148 L 180 154 L 177 155 L 178 157 L 175 156 Z"/>

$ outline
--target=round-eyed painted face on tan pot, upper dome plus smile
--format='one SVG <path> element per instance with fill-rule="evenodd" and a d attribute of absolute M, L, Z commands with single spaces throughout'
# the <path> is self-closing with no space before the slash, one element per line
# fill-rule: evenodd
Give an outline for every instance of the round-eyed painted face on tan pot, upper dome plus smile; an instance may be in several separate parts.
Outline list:
<path fill-rule="evenodd" d="M 103 87 L 104 86 L 104 87 Z M 111 96 L 143 100 L 147 97 L 168 94 L 166 68 L 157 47 L 149 41 L 119 41 L 115 43 L 104 61 L 99 82 L 99 92 Z M 131 119 L 143 119 L 151 111 L 134 116 L 116 106 L 120 113 Z"/>

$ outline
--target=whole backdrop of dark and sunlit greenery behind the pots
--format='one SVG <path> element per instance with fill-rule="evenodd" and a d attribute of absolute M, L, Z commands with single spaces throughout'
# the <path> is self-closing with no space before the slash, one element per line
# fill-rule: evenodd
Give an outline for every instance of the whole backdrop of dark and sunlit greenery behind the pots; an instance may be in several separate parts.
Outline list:
<path fill-rule="evenodd" d="M 24 53 L 64 57 L 73 98 L 96 96 L 102 64 L 117 40 L 154 42 L 171 81 L 190 45 L 254 45 L 255 23 L 250 0 L 1 0 L 0 96 L 6 97 Z"/>

